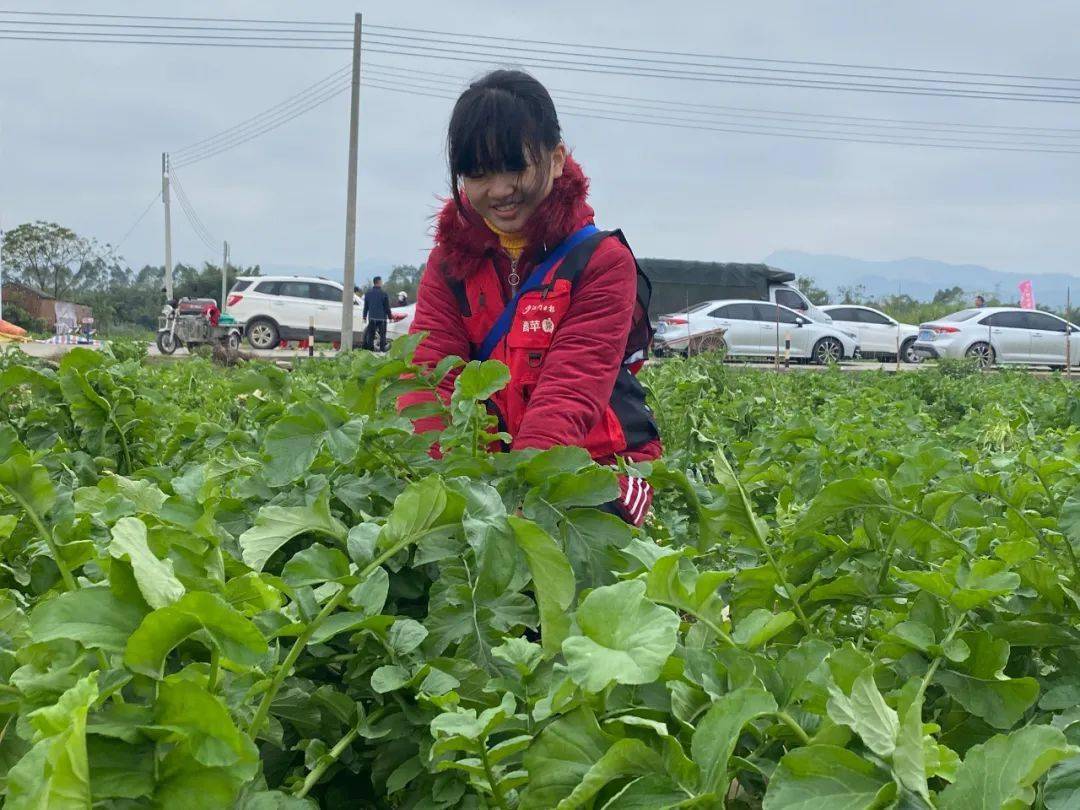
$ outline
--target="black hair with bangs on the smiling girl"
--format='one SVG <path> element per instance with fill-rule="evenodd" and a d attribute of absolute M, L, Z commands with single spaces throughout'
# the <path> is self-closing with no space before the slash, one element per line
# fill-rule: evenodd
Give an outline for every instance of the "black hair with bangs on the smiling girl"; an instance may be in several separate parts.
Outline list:
<path fill-rule="evenodd" d="M 450 191 L 461 207 L 462 177 L 524 172 L 563 139 L 548 90 L 523 70 L 492 70 L 458 98 L 446 138 Z M 537 178 L 543 188 L 546 174 Z"/>

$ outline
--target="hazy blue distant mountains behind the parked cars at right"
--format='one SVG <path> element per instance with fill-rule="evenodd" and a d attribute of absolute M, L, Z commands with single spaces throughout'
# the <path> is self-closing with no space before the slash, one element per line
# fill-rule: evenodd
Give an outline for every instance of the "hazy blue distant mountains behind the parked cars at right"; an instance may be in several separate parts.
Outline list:
<path fill-rule="evenodd" d="M 868 261 L 801 251 L 775 251 L 765 258 L 765 264 L 797 275 L 809 275 L 829 293 L 835 293 L 837 287 L 862 284 L 875 298 L 903 293 L 918 300 L 930 300 L 939 289 L 959 286 L 972 295 L 982 293 L 1001 300 L 1018 300 L 1016 285 L 1030 279 L 1038 303 L 1064 307 L 1069 286 L 1072 287 L 1074 306 L 1080 300 L 1080 275 L 1064 273 L 1014 273 L 981 265 L 950 265 L 922 258 Z"/>

